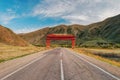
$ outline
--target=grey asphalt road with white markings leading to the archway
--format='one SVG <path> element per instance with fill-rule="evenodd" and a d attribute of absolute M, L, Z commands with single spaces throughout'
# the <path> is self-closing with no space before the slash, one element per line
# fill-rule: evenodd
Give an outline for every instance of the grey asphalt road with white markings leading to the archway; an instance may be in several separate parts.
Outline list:
<path fill-rule="evenodd" d="M 120 80 L 120 77 L 71 50 L 56 48 L 0 80 Z"/>

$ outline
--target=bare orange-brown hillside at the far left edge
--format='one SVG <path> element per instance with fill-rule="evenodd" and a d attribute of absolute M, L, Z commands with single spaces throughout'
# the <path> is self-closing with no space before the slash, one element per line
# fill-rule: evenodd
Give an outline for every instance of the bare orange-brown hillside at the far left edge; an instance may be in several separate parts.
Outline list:
<path fill-rule="evenodd" d="M 29 43 L 27 43 L 25 40 L 20 38 L 13 31 L 11 31 L 10 29 L 3 27 L 1 25 L 0 25 L 0 43 L 14 45 L 14 46 L 27 46 L 27 45 L 29 45 Z"/>

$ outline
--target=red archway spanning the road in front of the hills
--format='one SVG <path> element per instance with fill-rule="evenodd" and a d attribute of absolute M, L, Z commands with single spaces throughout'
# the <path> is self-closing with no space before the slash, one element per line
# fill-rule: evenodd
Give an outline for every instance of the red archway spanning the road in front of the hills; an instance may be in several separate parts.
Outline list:
<path fill-rule="evenodd" d="M 72 48 L 75 47 L 75 36 L 71 34 L 48 34 L 46 37 L 46 47 L 50 47 L 51 40 L 71 40 Z"/>

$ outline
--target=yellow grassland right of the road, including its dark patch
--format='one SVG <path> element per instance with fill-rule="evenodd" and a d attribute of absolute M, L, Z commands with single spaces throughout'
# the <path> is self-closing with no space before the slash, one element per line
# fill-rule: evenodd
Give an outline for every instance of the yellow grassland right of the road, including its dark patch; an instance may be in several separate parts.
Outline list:
<path fill-rule="evenodd" d="M 119 48 L 118 49 L 75 48 L 74 51 L 120 67 L 120 49 Z M 106 57 L 104 57 L 104 55 Z"/>

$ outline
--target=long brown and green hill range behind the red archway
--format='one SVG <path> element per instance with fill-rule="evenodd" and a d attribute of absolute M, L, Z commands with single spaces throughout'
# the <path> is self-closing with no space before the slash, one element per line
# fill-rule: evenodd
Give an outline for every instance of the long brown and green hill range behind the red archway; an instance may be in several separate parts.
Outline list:
<path fill-rule="evenodd" d="M 19 34 L 20 37 L 33 45 L 45 45 L 47 34 L 73 34 L 76 45 L 84 47 L 118 47 L 120 44 L 120 15 L 89 25 L 58 25 L 34 32 Z M 54 44 L 70 44 L 70 41 L 52 41 Z"/>

